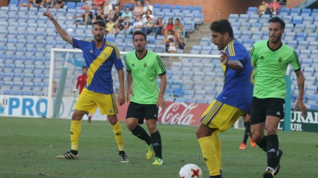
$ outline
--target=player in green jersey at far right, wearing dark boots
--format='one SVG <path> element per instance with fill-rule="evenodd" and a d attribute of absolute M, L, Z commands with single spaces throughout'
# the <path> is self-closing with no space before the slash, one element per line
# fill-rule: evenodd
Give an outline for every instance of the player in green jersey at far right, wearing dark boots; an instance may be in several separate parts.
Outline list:
<path fill-rule="evenodd" d="M 285 72 L 290 64 L 296 73 L 299 98 L 294 110 L 306 114 L 303 102 L 304 75 L 300 69 L 297 53 L 281 41 L 285 23 L 279 17 L 269 21 L 269 40 L 256 42 L 250 51 L 254 66 L 254 92 L 251 106 L 251 132 L 253 140 L 267 153 L 267 168 L 264 178 L 274 178 L 279 171 L 282 155 L 278 149 L 277 128 L 284 118 L 286 95 Z M 264 136 L 264 128 L 266 135 Z"/>

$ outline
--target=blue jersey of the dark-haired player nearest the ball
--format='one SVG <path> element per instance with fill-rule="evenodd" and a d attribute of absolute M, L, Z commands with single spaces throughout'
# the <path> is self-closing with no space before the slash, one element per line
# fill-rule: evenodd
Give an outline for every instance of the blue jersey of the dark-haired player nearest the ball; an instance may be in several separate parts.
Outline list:
<path fill-rule="evenodd" d="M 224 86 L 216 100 L 247 112 L 253 96 L 253 67 L 247 49 L 236 38 L 224 48 L 230 61 L 241 61 L 243 70 L 236 71 L 222 64 Z"/>

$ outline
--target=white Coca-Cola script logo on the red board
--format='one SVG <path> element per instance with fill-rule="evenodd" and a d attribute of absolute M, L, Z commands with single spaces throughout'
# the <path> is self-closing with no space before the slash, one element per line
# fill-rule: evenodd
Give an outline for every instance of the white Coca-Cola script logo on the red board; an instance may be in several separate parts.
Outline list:
<path fill-rule="evenodd" d="M 159 122 L 162 124 L 193 125 L 194 112 L 199 104 L 171 103 L 165 110 L 159 107 Z M 196 114 L 197 115 L 197 114 Z"/>

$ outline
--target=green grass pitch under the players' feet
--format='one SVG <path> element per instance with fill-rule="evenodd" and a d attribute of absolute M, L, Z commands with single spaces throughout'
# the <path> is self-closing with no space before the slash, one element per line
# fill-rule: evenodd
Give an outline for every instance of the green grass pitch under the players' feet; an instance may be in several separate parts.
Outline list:
<path fill-rule="evenodd" d="M 0 178 L 178 178 L 180 168 L 197 164 L 208 178 L 193 126 L 162 125 L 164 165 L 146 160 L 144 142 L 122 123 L 129 163 L 120 163 L 109 122 L 82 123 L 80 159 L 58 160 L 70 149 L 70 120 L 0 117 Z M 145 127 L 145 124 L 143 125 Z M 239 150 L 243 130 L 230 129 L 220 135 L 226 178 L 262 178 L 265 152 L 246 146 Z M 284 151 L 275 178 L 318 178 L 318 134 L 279 132 Z"/>

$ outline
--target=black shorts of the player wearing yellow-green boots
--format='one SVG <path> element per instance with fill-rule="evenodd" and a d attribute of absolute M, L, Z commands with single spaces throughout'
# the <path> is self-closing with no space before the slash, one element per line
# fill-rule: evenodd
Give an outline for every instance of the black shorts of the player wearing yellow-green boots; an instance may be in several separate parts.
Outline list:
<path fill-rule="evenodd" d="M 126 118 L 134 117 L 138 119 L 138 124 L 143 124 L 144 119 L 158 120 L 158 107 L 156 104 L 139 104 L 130 102 Z"/>

